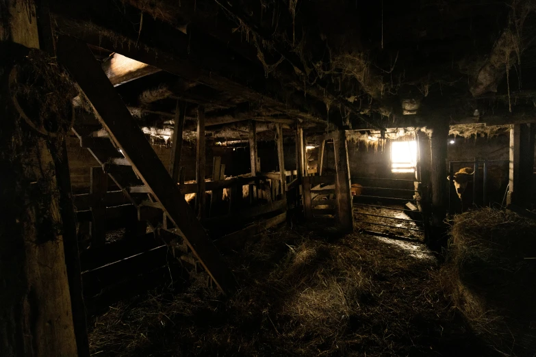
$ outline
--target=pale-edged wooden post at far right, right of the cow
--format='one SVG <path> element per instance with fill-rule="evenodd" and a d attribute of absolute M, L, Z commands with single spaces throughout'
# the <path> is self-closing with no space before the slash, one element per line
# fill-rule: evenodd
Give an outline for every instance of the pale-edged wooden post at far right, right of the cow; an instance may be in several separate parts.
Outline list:
<path fill-rule="evenodd" d="M 510 170 L 507 204 L 530 209 L 536 124 L 514 124 L 510 129 Z"/>

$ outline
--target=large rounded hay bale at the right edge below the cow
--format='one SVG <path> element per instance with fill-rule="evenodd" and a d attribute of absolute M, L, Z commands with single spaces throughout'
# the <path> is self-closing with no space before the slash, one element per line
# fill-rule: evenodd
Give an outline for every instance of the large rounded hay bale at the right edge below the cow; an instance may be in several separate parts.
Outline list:
<path fill-rule="evenodd" d="M 481 338 L 508 355 L 536 350 L 536 221 L 511 211 L 457 215 L 444 284 Z"/>

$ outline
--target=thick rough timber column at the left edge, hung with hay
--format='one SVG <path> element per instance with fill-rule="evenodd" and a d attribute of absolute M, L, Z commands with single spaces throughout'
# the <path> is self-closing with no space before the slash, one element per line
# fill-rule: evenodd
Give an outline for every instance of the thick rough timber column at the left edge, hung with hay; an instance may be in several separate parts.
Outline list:
<path fill-rule="evenodd" d="M 27 116 L 24 101 L 13 100 L 47 94 L 67 109 L 73 94 L 36 50 L 36 20 L 33 1 L 0 4 L 0 356 L 78 356 L 53 157 L 62 155 L 68 117 L 38 100 L 39 115 Z M 43 88 L 19 73 L 44 76 Z"/>

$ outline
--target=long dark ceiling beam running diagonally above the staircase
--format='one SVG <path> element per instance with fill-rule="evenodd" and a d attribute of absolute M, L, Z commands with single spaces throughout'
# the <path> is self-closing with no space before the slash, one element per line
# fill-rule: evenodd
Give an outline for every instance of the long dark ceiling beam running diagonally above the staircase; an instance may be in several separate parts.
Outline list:
<path fill-rule="evenodd" d="M 154 21 L 150 16 L 144 17 L 142 31 L 138 32 L 132 23 L 139 22 L 139 10 L 136 10 L 136 18 L 129 18 L 128 16 L 134 15 L 129 15 L 127 10 L 118 12 L 107 1 L 66 6 L 64 0 L 56 0 L 51 3 L 51 12 L 57 26 L 56 31 L 60 34 L 74 36 L 88 44 L 115 51 L 179 77 L 238 96 L 244 101 L 258 102 L 301 120 L 326 124 L 322 117 L 301 109 L 303 104 L 275 99 L 284 92 L 283 89 L 267 91 L 262 70 L 258 71 L 260 80 L 252 78 L 255 71 L 252 72 L 251 63 L 226 49 L 225 44 L 220 44 L 218 48 L 214 43 L 196 43 L 194 52 L 194 42 L 190 44 L 188 35 L 170 25 Z M 123 18 L 118 20 L 118 16 Z M 188 53 L 190 45 L 192 53 Z"/>

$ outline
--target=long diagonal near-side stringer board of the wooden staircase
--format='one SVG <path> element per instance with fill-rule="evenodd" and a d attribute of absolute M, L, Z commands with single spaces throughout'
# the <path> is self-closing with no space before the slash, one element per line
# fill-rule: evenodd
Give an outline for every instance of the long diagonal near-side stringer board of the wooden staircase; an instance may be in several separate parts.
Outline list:
<path fill-rule="evenodd" d="M 170 222 L 181 230 L 216 286 L 224 293 L 231 293 L 236 285 L 231 271 L 88 46 L 73 38 L 60 37 L 57 49 L 58 59 L 99 113 L 99 121 L 110 138 L 129 159 L 155 200 L 162 204 Z"/>

